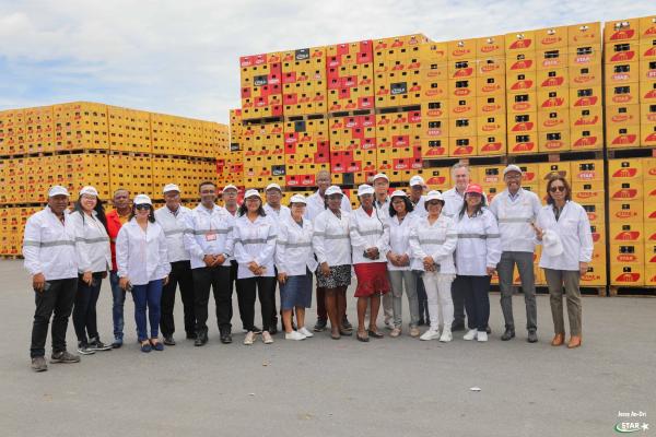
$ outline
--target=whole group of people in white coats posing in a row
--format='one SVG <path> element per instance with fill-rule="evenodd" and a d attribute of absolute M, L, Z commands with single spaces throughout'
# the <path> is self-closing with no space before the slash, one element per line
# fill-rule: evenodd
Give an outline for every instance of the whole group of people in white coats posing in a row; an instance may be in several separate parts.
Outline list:
<path fill-rule="evenodd" d="M 547 204 L 522 188 L 522 169 L 504 170 L 507 189 L 488 204 L 483 189 L 470 181 L 469 168 L 452 168 L 455 187 L 444 193 L 429 191 L 421 176 L 410 190 L 389 193 L 389 179 L 377 174 L 371 185 L 358 188 L 353 211 L 330 175 L 319 172 L 318 190 L 294 194 L 281 203 L 282 189 L 270 184 L 263 194 L 249 189 L 237 202 L 238 190 L 229 185 L 216 204 L 218 187 L 199 186 L 194 210 L 180 203 L 174 185 L 163 189 L 165 205 L 153 208 L 145 194 L 119 189 L 105 213 L 98 192 L 84 187 L 72 210 L 65 187 L 49 190 L 47 206 L 25 226 L 23 255 L 32 274 L 36 310 L 32 332 L 32 367 L 47 369 L 45 344 L 52 319 L 51 363 L 79 362 L 66 345 L 72 312 L 78 353 L 117 349 L 124 341 L 126 295 L 134 302 L 134 321 L 142 352 L 175 345 L 174 303 L 179 287 L 186 338 L 196 346 L 208 342 L 208 306 L 213 293 L 219 336 L 231 343 L 233 288 L 246 332 L 244 344 L 261 335 L 266 344 L 278 332 L 278 316 L 288 340 L 305 340 L 330 322 L 330 336 L 352 335 L 362 342 L 380 339 L 383 321 L 389 336 L 403 332 L 402 296 L 409 306 L 408 333 L 420 340 L 449 342 L 453 332 L 465 340 L 488 341 L 490 279 L 497 272 L 504 341 L 515 336 L 513 272 L 518 269 L 526 303 L 527 341 L 537 336 L 534 255 L 542 245 L 539 265 L 550 292 L 555 335 L 565 342 L 563 290 L 570 320 L 570 349 L 582 343 L 579 279 L 593 255 L 585 210 L 571 200 L 565 178 L 554 174 L 547 185 Z M 347 318 L 347 290 L 356 277 L 358 322 Z M 102 282 L 109 275 L 113 294 L 114 340 L 101 340 L 96 303 Z M 316 276 L 317 322 L 306 328 L 306 309 L 313 300 Z M 277 290 L 280 298 L 277 298 Z M 261 328 L 255 324 L 256 300 Z M 280 312 L 277 308 L 277 303 Z M 465 320 L 467 321 L 465 323 Z M 427 326 L 422 333 L 420 326 Z M 160 330 L 162 338 L 160 339 Z"/>

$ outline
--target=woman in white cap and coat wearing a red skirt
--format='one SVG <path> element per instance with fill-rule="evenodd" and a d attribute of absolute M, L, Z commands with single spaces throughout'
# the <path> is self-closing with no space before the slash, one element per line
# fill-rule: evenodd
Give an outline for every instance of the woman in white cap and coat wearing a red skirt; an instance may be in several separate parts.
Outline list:
<path fill-rule="evenodd" d="M 376 327 L 380 295 L 389 293 L 387 276 L 387 251 L 389 250 L 389 225 L 387 218 L 374 208 L 374 188 L 363 184 L 358 187 L 360 208 L 350 217 L 349 229 L 353 252 L 353 268 L 358 276 L 358 340 L 366 342 L 370 336 L 383 336 Z M 364 315 L 370 309 L 368 330 L 364 329 Z M 348 330 L 342 334 L 350 335 Z"/>

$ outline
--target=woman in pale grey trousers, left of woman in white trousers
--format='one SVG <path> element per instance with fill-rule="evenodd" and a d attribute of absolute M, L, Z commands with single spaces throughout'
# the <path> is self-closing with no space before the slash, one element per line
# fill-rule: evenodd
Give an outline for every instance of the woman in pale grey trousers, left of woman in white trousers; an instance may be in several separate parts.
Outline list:
<path fill-rule="evenodd" d="M 415 216 L 414 205 L 403 190 L 391 193 L 389 206 L 389 251 L 387 252 L 387 270 L 391 282 L 394 324 L 390 336 L 399 336 L 402 326 L 403 288 L 410 309 L 410 335 L 419 336 L 419 302 L 417 299 L 417 275 L 410 268 L 410 232 Z M 405 287 L 403 287 L 405 285 Z"/>

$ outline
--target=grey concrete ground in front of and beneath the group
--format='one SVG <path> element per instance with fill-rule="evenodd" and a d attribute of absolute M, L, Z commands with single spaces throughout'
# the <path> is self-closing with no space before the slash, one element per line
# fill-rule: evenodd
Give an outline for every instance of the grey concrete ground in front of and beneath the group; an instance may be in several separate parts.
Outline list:
<path fill-rule="evenodd" d="M 136 344 L 128 298 L 126 346 L 34 374 L 28 276 L 21 261 L 2 261 L 0 277 L 3 436 L 611 436 L 623 421 L 618 413 L 631 411 L 651 423 L 640 435 L 656 434 L 656 298 L 585 297 L 584 345 L 573 351 L 549 345 L 543 295 L 539 343 L 527 343 L 522 329 L 501 342 L 492 294 L 485 344 L 461 333 L 449 344 L 408 335 L 365 344 L 321 333 L 303 342 L 276 335 L 272 345 L 247 347 L 235 302 L 233 344 L 220 344 L 212 323 L 204 347 L 178 331 L 178 345 L 150 354 Z M 105 283 L 98 323 L 106 341 L 110 296 Z M 514 303 L 520 328 L 524 303 L 520 296 Z M 350 299 L 352 321 L 354 307 Z M 314 321 L 313 310 L 307 326 Z M 74 351 L 72 324 L 68 340 Z"/>

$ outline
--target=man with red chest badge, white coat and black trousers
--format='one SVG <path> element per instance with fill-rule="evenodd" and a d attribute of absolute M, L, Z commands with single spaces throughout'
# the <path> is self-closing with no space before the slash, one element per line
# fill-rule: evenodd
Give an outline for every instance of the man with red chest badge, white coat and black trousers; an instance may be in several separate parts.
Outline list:
<path fill-rule="evenodd" d="M 194 345 L 208 342 L 208 304 L 214 294 L 216 324 L 222 343 L 232 343 L 232 286 L 230 258 L 234 253 L 233 216 L 218 206 L 216 186 L 211 181 L 198 186 L 200 203 L 186 217 L 185 249 L 191 259 L 194 279 Z"/>

